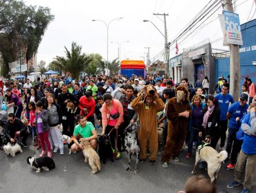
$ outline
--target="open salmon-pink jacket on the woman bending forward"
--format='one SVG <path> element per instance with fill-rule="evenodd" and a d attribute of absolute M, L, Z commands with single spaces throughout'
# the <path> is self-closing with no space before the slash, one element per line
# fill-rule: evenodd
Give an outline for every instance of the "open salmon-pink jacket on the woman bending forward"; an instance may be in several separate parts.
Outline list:
<path fill-rule="evenodd" d="M 119 112 L 119 118 L 118 118 L 118 123 L 117 125 L 119 126 L 123 121 L 123 115 L 124 115 L 124 110 L 122 108 L 122 103 L 120 103 L 120 101 L 116 100 L 116 99 L 112 99 L 113 101 L 113 105 L 116 107 L 116 110 L 118 110 Z M 109 122 L 109 110 L 107 109 L 107 105 L 106 103 L 104 103 L 102 105 L 101 108 L 101 114 L 102 114 L 102 126 L 107 126 L 107 123 Z"/>

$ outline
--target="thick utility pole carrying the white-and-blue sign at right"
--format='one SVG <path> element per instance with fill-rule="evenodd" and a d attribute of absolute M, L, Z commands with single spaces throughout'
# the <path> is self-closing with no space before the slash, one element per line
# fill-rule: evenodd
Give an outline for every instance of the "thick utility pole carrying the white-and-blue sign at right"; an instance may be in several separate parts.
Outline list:
<path fill-rule="evenodd" d="M 232 1 L 224 0 L 224 6 L 228 12 L 234 12 Z M 235 101 L 239 99 L 240 90 L 240 62 L 239 62 L 239 45 L 230 44 L 230 94 Z"/>

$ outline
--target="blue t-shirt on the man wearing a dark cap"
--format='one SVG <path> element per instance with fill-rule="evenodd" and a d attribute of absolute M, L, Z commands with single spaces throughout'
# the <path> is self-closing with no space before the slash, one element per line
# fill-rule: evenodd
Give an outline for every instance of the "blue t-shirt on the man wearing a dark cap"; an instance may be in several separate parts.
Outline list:
<path fill-rule="evenodd" d="M 248 104 L 242 107 L 239 101 L 232 103 L 232 105 L 230 105 L 230 108 L 228 108 L 228 112 L 231 114 L 230 120 L 228 122 L 228 128 L 233 128 L 238 130 L 241 125 L 241 122 L 235 121 L 235 119 L 237 119 L 237 117 L 241 119 L 244 116 L 244 114 L 247 113 L 247 109 L 248 109 Z"/>

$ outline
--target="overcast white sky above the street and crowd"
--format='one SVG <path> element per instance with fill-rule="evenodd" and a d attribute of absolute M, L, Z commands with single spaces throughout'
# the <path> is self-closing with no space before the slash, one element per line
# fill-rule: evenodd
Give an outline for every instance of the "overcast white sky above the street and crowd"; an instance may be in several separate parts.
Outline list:
<path fill-rule="evenodd" d="M 82 45 L 82 52 L 86 54 L 98 53 L 107 60 L 107 27 L 99 19 L 109 23 L 109 61 L 118 57 L 118 43 L 121 45 L 121 60 L 143 60 L 145 47 L 150 47 L 150 59 L 154 57 L 163 60 L 160 53 L 164 49 L 164 38 L 160 32 L 149 22 L 152 21 L 164 34 L 163 16 L 154 16 L 153 13 L 169 14 L 167 19 L 168 42 L 174 40 L 188 22 L 206 6 L 210 0 L 27 0 L 27 5 L 47 6 L 55 15 L 54 21 L 48 26 L 42 43 L 39 45 L 37 62 L 53 61 L 56 56 L 64 56 L 64 46 L 71 48 L 72 41 Z M 255 19 L 255 0 L 235 0 L 240 23 Z M 234 2 L 234 1 L 233 1 Z M 222 8 L 212 14 L 195 33 L 188 39 L 179 43 L 179 51 L 210 39 L 212 48 L 221 48 L 223 35 L 217 19 Z M 208 25 L 205 25 L 208 24 Z M 201 27 L 202 27 L 201 26 Z M 170 55 L 175 55 L 175 45 L 171 46 Z M 224 49 L 228 49 L 227 47 Z M 155 58 L 155 59 L 156 59 Z"/>

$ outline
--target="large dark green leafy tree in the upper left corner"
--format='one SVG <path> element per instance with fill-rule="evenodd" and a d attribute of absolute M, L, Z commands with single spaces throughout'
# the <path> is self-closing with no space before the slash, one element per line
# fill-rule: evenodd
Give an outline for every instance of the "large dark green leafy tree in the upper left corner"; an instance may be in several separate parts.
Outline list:
<path fill-rule="evenodd" d="M 0 50 L 6 73 L 8 63 L 17 60 L 22 50 L 27 61 L 31 59 L 53 19 L 48 8 L 26 6 L 24 1 L 0 0 Z"/>

